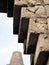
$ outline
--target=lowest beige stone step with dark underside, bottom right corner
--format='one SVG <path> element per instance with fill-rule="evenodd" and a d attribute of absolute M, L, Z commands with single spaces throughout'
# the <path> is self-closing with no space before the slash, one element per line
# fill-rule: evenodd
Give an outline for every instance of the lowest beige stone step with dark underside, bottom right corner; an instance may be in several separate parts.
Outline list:
<path fill-rule="evenodd" d="M 49 35 L 48 35 L 49 36 Z M 34 57 L 34 65 L 45 65 L 49 57 L 49 37 L 46 39 L 40 34 Z"/>

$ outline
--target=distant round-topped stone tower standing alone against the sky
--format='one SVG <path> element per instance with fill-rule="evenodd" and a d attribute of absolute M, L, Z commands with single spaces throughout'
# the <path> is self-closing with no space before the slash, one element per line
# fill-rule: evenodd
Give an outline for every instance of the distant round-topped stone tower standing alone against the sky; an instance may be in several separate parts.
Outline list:
<path fill-rule="evenodd" d="M 8 65 L 24 65 L 21 52 L 15 51 Z"/>

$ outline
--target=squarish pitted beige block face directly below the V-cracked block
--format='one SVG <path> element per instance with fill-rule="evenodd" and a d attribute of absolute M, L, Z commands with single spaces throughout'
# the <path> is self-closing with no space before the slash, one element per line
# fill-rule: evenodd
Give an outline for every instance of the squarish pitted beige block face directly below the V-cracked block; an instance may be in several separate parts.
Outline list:
<path fill-rule="evenodd" d="M 29 31 L 34 33 L 47 33 L 47 24 L 46 18 L 31 18 L 29 22 Z"/>

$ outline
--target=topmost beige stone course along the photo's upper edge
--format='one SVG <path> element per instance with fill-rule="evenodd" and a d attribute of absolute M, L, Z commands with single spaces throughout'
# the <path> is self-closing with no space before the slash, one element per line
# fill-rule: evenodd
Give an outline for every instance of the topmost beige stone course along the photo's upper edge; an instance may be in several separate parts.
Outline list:
<path fill-rule="evenodd" d="M 28 6 L 49 4 L 49 0 L 14 0 L 15 5 L 27 4 Z"/>

